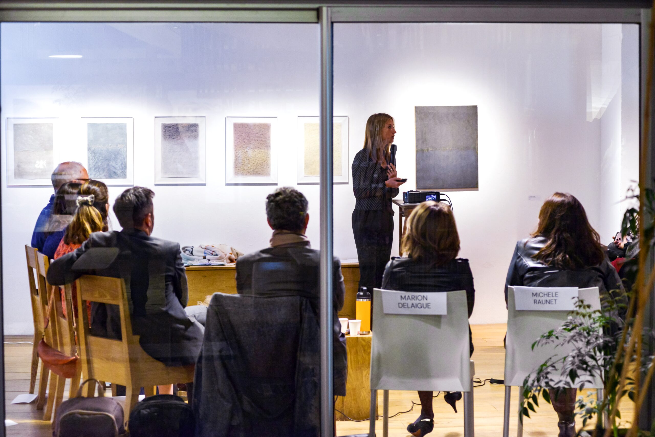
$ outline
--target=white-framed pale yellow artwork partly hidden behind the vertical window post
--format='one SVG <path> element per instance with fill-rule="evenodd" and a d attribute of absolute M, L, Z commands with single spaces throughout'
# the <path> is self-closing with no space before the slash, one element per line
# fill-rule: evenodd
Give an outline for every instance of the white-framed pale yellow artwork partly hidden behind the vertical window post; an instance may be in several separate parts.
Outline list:
<path fill-rule="evenodd" d="M 320 169 L 320 135 L 318 117 L 298 117 L 298 183 L 318 184 Z M 332 121 L 333 183 L 348 183 L 348 117 Z"/>

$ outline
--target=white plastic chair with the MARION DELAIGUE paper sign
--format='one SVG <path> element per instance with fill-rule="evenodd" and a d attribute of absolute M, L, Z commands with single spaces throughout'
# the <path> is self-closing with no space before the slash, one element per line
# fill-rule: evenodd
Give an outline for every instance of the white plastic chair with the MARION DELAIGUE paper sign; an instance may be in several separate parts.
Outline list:
<path fill-rule="evenodd" d="M 377 391 L 383 390 L 383 436 L 388 436 L 389 390 L 461 391 L 464 437 L 474 437 L 473 376 L 468 337 L 466 291 L 447 294 L 447 315 L 383 313 L 383 293 L 373 290 L 371 341 L 371 421 L 375 436 Z"/>

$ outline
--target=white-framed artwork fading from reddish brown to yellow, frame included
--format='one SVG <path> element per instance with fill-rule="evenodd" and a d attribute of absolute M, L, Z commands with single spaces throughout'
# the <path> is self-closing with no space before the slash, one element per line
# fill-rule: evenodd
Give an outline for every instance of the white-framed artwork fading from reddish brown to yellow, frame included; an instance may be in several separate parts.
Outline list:
<path fill-rule="evenodd" d="M 276 117 L 225 118 L 225 183 L 278 182 Z"/>

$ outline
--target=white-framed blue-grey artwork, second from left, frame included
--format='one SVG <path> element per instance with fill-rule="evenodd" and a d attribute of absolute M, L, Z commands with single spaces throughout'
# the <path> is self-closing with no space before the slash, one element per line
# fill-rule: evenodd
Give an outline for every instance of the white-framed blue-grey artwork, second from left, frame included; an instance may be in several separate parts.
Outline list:
<path fill-rule="evenodd" d="M 134 118 L 83 118 L 86 170 L 107 185 L 134 185 Z"/>

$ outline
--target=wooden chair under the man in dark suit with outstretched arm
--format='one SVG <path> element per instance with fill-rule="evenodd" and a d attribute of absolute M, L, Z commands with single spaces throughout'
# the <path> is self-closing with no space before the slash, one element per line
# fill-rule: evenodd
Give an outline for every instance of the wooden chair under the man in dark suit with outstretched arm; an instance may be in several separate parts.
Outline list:
<path fill-rule="evenodd" d="M 90 333 L 86 301 L 119 307 L 122 340 L 93 336 Z M 122 279 L 90 275 L 78 279 L 77 313 L 84 377 L 126 387 L 126 420 L 139 400 L 141 387 L 145 390 L 145 396 L 152 396 L 155 394 L 155 385 L 193 381 L 193 364 L 168 367 L 143 351 L 139 336 L 132 334 L 132 320 Z M 95 384 L 88 384 L 86 396 L 92 396 L 94 390 Z"/>

